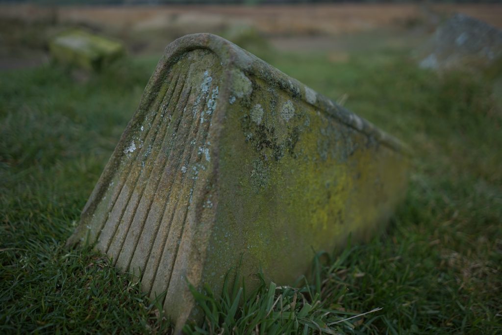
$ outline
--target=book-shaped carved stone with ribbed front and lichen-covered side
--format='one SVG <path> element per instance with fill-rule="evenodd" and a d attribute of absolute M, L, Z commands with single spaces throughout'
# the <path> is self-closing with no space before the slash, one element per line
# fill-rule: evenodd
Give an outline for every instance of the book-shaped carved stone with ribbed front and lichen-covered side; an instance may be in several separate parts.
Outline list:
<path fill-rule="evenodd" d="M 395 138 L 214 35 L 171 43 L 68 244 L 141 280 L 178 329 L 187 282 L 291 284 L 318 251 L 364 240 L 406 188 Z"/>

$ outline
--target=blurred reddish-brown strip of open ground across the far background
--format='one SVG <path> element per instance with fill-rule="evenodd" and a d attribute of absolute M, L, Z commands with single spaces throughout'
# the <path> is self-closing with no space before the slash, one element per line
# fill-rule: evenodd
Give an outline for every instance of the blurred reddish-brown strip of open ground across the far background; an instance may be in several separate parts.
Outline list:
<path fill-rule="evenodd" d="M 0 5 L 0 17 L 23 20 L 107 26 L 114 29 L 148 30 L 189 27 L 214 29 L 232 24 L 251 24 L 270 35 L 338 34 L 390 26 L 428 22 L 427 12 L 448 15 L 461 12 L 502 27 L 502 4 L 329 4 L 282 6 L 120 6 L 60 7 Z"/>

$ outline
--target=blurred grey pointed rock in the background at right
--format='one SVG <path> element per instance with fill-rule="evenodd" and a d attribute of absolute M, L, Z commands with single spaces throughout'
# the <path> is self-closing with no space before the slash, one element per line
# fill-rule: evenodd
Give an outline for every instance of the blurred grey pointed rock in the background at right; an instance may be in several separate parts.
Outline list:
<path fill-rule="evenodd" d="M 418 51 L 420 66 L 448 69 L 489 65 L 502 57 L 502 31 L 464 14 L 441 25 Z"/>

